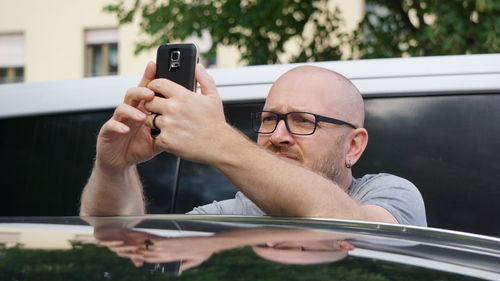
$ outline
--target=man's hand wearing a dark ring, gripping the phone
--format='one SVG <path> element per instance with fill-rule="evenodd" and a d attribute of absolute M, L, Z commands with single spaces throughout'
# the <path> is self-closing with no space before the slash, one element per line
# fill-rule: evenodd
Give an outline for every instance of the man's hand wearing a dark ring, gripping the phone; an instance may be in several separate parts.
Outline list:
<path fill-rule="evenodd" d="M 202 163 L 210 162 L 220 151 L 220 138 L 229 128 L 225 121 L 222 102 L 215 83 L 201 65 L 196 67 L 196 80 L 201 95 L 167 79 L 156 79 L 148 88 L 162 94 L 145 103 L 145 108 L 159 115 L 155 125 L 161 133 L 155 145 L 184 159 Z M 154 114 L 148 117 L 152 127 Z"/>

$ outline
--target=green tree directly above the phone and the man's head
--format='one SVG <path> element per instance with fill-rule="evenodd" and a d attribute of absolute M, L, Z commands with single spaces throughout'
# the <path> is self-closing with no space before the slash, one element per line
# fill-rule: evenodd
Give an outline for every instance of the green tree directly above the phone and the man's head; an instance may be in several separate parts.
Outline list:
<path fill-rule="evenodd" d="M 234 45 L 244 62 L 267 64 L 279 63 L 278 56 L 291 41 L 300 46 L 294 61 L 339 59 L 340 41 L 347 40 L 347 34 L 338 29 L 342 23 L 339 11 L 329 9 L 327 1 L 136 0 L 127 7 L 119 0 L 105 10 L 115 13 L 121 24 L 141 14 L 141 29 L 150 39 L 139 42 L 136 53 L 192 34 L 201 36 L 207 30 L 213 40 L 209 54 L 214 54 L 219 44 Z M 304 37 L 304 33 L 312 36 Z"/>

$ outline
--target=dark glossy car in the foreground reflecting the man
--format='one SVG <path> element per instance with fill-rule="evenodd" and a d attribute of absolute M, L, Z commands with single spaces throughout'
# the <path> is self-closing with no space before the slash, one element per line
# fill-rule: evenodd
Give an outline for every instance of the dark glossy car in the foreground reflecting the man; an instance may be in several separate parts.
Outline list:
<path fill-rule="evenodd" d="M 1 280 L 500 280 L 498 238 L 337 219 L 2 217 L 0 243 Z"/>

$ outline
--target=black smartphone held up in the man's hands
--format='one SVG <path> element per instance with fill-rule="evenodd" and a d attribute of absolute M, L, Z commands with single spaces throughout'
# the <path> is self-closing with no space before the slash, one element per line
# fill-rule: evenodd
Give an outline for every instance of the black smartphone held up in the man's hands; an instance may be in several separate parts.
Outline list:
<path fill-rule="evenodd" d="M 198 48 L 195 44 L 164 44 L 156 53 L 156 78 L 166 78 L 184 88 L 196 91 L 194 72 L 198 63 Z M 156 94 L 163 97 L 160 94 Z M 151 129 L 156 136 L 160 130 Z"/>

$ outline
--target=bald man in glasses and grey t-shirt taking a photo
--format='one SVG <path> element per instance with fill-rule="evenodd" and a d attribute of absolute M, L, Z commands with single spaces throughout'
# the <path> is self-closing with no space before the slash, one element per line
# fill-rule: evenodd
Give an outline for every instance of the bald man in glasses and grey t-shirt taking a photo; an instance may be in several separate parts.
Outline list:
<path fill-rule="evenodd" d="M 422 197 L 410 182 L 388 174 L 353 179 L 350 168 L 365 150 L 368 133 L 363 99 L 342 75 L 313 66 L 282 75 L 264 112 L 254 116 L 260 125 L 256 145 L 225 122 L 215 83 L 201 65 L 201 95 L 154 79 L 155 70 L 148 64 L 139 87 L 127 91 L 103 125 L 82 215 L 143 214 L 135 165 L 167 151 L 214 166 L 241 191 L 191 213 L 426 225 Z M 161 130 L 155 138 L 153 127 Z"/>

